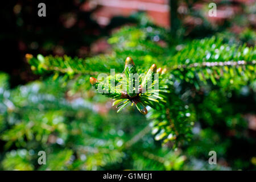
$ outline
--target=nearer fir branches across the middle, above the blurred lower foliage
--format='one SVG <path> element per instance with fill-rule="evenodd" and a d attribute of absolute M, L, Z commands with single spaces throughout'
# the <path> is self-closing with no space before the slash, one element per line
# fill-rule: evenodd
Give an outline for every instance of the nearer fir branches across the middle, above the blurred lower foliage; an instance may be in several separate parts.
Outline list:
<path fill-rule="evenodd" d="M 155 41 L 154 38 L 163 40 Z M 148 93 L 142 94 L 139 100 L 142 105 L 135 105 L 144 114 L 147 113 L 144 112 L 145 106 L 152 108 L 148 118 L 154 123 L 152 133 L 155 139 L 164 142 L 172 140 L 176 147 L 176 142 L 191 139 L 191 129 L 195 121 L 201 119 L 196 118 L 192 95 L 196 96 L 199 92 L 207 94 L 214 89 L 232 92 L 240 90 L 242 86 L 249 86 L 255 92 L 256 49 L 246 44 L 229 45 L 221 36 L 193 40 L 176 47 L 159 46 L 160 41 L 166 41 L 164 38 L 166 34 L 157 27 L 123 27 L 109 39 L 109 43 L 113 44 L 110 55 L 86 60 L 38 55 L 28 60 L 36 72 L 53 71 L 71 78 L 74 75 L 110 73 L 110 69 L 122 72 L 125 64 L 123 56 L 135 57 L 134 63 L 142 73 L 146 73 L 151 64 L 164 68 L 164 78 L 159 78 L 160 96 L 156 98 L 154 94 L 153 97 L 148 97 Z M 108 85 L 111 85 L 110 82 Z M 118 113 L 131 101 L 121 98 L 121 90 L 106 96 L 116 100 L 113 105 L 119 104 Z"/>

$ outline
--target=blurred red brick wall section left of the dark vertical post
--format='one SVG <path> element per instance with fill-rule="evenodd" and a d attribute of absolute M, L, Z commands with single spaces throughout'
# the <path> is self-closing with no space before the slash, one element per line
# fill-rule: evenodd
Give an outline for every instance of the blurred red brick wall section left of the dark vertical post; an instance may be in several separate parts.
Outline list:
<path fill-rule="evenodd" d="M 114 16 L 129 16 L 143 10 L 154 23 L 170 27 L 168 0 L 93 0 L 87 2 L 84 9 L 92 6 L 100 6 L 93 18 L 102 26 Z"/>

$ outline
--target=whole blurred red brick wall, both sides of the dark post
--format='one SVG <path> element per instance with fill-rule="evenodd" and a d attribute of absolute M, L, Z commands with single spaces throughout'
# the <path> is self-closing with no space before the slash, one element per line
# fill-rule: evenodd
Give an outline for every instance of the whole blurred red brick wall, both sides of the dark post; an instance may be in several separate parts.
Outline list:
<path fill-rule="evenodd" d="M 178 1 L 178 0 L 176 0 Z M 210 2 L 220 2 L 221 0 L 205 0 L 204 3 L 199 1 L 195 3 L 193 9 L 200 10 L 202 7 L 207 7 Z M 234 2 L 245 3 L 250 5 L 255 0 L 230 0 Z M 152 21 L 158 26 L 170 27 L 170 7 L 169 0 L 90 0 L 82 6 L 82 9 L 88 10 L 92 7 L 98 7 L 93 13 L 93 18 L 102 26 L 106 26 L 114 16 L 129 16 L 137 11 L 145 11 Z M 238 9 L 238 10 L 237 10 Z M 208 11 L 205 11 L 205 18 L 210 22 L 221 22 L 226 18 L 232 17 L 236 13 L 241 12 L 242 7 L 237 6 L 217 6 L 217 16 L 208 16 Z M 253 16 L 254 18 L 255 16 Z M 184 23 L 188 20 L 188 24 L 195 24 L 193 20 L 186 18 L 183 15 Z"/>

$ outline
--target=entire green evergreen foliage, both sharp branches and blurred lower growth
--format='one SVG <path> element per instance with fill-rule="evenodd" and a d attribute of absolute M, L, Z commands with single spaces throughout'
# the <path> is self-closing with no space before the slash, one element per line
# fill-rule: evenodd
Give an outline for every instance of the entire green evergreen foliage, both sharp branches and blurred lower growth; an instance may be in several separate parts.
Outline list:
<path fill-rule="evenodd" d="M 43 81 L 10 89 L 0 75 L 2 169 L 255 169 L 256 140 L 245 119 L 255 114 L 255 46 L 227 43 L 222 34 L 173 43 L 144 20 L 108 41 L 111 53 L 86 59 L 27 54 Z M 159 95 L 102 93 L 118 107 L 118 114 L 104 113 L 101 104 L 109 100 L 99 86 L 111 90 L 110 78 L 118 84 L 122 74 L 156 72 Z M 108 85 L 94 78 L 100 73 L 108 73 Z M 249 150 L 246 156 L 231 155 L 241 150 L 236 143 Z M 40 150 L 48 154 L 43 166 Z M 205 165 L 210 150 L 229 167 Z"/>

